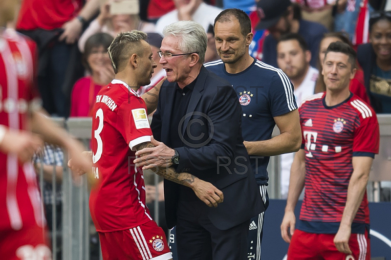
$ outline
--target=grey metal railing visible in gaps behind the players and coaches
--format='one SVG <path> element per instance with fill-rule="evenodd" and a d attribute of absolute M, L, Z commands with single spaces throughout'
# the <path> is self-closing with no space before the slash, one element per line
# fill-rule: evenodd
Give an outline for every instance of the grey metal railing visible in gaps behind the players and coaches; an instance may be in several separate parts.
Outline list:
<path fill-rule="evenodd" d="M 378 115 L 380 124 L 380 152 L 376 155 L 370 173 L 370 181 L 368 184 L 368 197 L 370 201 L 379 201 L 380 183 L 381 181 L 391 180 L 391 114 Z M 91 118 L 70 118 L 64 120 L 54 118 L 54 120 L 64 127 L 70 134 L 81 140 L 86 150 L 89 150 L 91 136 Z M 278 134 L 276 128 L 273 136 Z M 63 260 L 97 260 L 102 259 L 99 246 L 96 246 L 95 252 L 91 251 L 91 236 L 95 240 L 96 231 L 92 224 L 89 214 L 89 187 L 86 176 L 82 176 L 79 185 L 75 185 L 72 179 L 72 173 L 67 168 L 67 156 L 64 152 L 63 165 L 63 181 L 62 181 L 62 230 L 56 227 L 57 216 L 56 198 L 53 196 L 52 208 L 52 246 L 53 260 L 62 258 Z M 42 170 L 41 170 L 42 173 Z M 55 168 L 53 168 L 55 173 Z M 280 195 L 280 156 L 272 156 L 269 166 L 269 186 L 268 193 L 270 198 L 281 198 Z M 154 183 L 157 187 L 158 176 L 155 174 Z M 52 174 L 53 194 L 56 194 L 56 174 Z M 43 174 L 40 174 L 41 195 L 43 195 Z M 154 204 L 154 218 L 158 221 L 158 189 L 156 189 L 156 198 Z M 44 212 L 42 212 L 44 216 Z M 61 238 L 61 243 L 58 243 L 58 238 Z M 98 241 L 96 241 L 97 243 Z M 60 245 L 59 245 L 60 244 Z M 96 244 L 98 245 L 98 244 Z M 96 252 L 99 250 L 99 252 Z M 60 252 L 60 253 L 59 253 Z M 91 253 L 94 253 L 91 255 Z M 93 259 L 92 257 L 93 256 Z"/>

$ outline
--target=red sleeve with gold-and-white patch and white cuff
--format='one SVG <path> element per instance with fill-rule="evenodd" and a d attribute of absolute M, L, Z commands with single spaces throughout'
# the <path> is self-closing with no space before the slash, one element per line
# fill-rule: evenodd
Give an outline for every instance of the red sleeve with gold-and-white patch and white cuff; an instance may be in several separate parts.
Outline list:
<path fill-rule="evenodd" d="M 124 127 L 124 138 L 129 144 L 130 150 L 135 146 L 151 141 L 152 131 L 148 121 L 147 109 L 140 97 L 130 96 L 129 102 L 120 106 L 118 111 Z"/>

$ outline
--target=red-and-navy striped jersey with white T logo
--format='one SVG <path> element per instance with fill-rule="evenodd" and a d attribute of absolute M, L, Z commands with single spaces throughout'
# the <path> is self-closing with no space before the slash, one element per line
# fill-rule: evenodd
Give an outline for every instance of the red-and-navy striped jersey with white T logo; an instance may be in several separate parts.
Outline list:
<path fill-rule="evenodd" d="M 325 93 L 299 108 L 305 151 L 305 193 L 300 219 L 340 222 L 353 173 L 352 156 L 379 152 L 379 124 L 372 108 L 354 94 L 327 107 Z M 369 223 L 367 193 L 353 222 Z"/>

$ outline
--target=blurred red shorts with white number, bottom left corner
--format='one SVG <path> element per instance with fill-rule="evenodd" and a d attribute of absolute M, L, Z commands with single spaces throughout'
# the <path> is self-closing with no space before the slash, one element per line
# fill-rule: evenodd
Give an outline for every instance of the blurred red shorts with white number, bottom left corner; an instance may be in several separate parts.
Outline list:
<path fill-rule="evenodd" d="M 52 253 L 44 237 L 46 230 L 39 226 L 21 230 L 0 231 L 0 258 L 7 260 L 50 260 Z"/>

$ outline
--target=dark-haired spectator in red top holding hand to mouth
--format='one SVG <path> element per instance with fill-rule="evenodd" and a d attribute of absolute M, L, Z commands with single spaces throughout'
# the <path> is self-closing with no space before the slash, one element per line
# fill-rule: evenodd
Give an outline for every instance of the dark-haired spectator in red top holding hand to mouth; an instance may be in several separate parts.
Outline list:
<path fill-rule="evenodd" d="M 107 48 L 114 38 L 107 33 L 96 33 L 86 42 L 83 64 L 88 76 L 79 79 L 72 89 L 70 116 L 91 116 L 99 90 L 114 79 L 114 70 Z"/>

